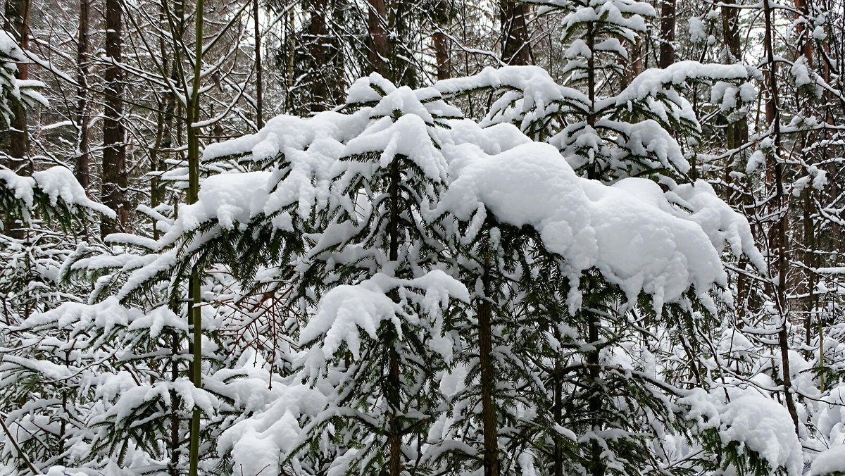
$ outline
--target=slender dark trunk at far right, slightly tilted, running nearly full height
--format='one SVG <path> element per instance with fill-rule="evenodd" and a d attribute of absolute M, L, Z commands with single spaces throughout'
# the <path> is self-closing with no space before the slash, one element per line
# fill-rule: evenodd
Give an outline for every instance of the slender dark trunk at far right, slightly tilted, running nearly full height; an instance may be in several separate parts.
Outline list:
<path fill-rule="evenodd" d="M 763 0 L 764 16 L 766 17 L 766 32 L 764 42 L 766 43 L 766 62 L 768 63 L 768 86 L 769 86 L 769 101 L 766 101 L 766 123 L 771 129 L 772 140 L 774 143 L 774 177 L 772 185 L 775 188 L 774 210 L 777 216 L 774 230 L 770 238 L 771 246 L 775 248 L 777 259 L 777 266 L 774 269 L 777 271 L 777 282 L 775 283 L 775 294 L 777 298 L 777 306 L 781 315 L 781 328 L 777 333 L 778 344 L 781 352 L 781 367 L 783 374 L 783 397 L 787 403 L 787 410 L 789 416 L 793 420 L 795 427 L 795 434 L 799 435 L 799 420 L 798 413 L 795 409 L 795 402 L 792 394 L 792 375 L 789 370 L 789 341 L 788 341 L 788 322 L 789 322 L 789 303 L 787 299 L 787 249 L 788 249 L 788 202 L 783 193 L 784 170 L 783 161 L 781 160 L 781 130 L 780 130 L 780 110 L 777 104 L 777 63 L 774 55 L 774 39 L 772 31 L 772 9 L 769 0 Z"/>

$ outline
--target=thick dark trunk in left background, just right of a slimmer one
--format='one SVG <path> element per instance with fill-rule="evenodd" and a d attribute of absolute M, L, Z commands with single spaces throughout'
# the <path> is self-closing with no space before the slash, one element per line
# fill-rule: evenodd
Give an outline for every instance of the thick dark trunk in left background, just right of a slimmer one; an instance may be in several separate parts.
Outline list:
<path fill-rule="evenodd" d="M 123 128 L 123 5 L 121 0 L 106 0 L 106 79 L 105 113 L 103 118 L 102 202 L 117 212 L 117 222 L 103 218 L 101 234 L 122 232 L 128 224 L 126 202 L 126 144 Z"/>

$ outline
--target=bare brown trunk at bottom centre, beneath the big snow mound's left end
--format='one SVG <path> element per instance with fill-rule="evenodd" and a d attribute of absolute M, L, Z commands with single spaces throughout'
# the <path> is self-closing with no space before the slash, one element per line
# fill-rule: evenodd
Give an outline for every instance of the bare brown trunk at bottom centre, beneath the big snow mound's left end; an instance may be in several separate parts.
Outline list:
<path fill-rule="evenodd" d="M 493 326 L 487 298 L 478 301 L 478 360 L 481 365 L 481 407 L 484 435 L 484 476 L 499 476 L 499 431 L 493 400 L 496 387 L 493 367 Z"/>

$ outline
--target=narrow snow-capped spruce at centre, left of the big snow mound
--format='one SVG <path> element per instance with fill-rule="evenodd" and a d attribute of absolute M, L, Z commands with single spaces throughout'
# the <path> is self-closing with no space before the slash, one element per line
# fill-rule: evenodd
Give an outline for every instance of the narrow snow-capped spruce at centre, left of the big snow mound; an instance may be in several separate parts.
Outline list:
<path fill-rule="evenodd" d="M 309 253 L 335 286 L 300 335 L 303 376 L 334 375 L 335 388 L 303 431 L 308 446 L 349 445 L 333 471 L 398 476 L 423 470 L 419 451 L 444 411 L 438 377 L 455 352 L 444 332 L 453 301 L 467 298 L 438 269 L 444 246 L 427 222 L 447 178 L 437 129 L 456 111 L 436 90 L 397 89 L 378 74 L 348 102 L 368 123 L 333 166 L 336 208 Z"/>

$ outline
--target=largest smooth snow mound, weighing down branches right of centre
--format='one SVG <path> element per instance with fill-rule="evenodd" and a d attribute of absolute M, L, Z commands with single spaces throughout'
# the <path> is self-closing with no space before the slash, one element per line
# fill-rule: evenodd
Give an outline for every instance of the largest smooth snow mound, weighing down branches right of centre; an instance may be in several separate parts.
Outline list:
<path fill-rule="evenodd" d="M 441 208 L 461 220 L 489 211 L 499 222 L 534 227 L 546 248 L 564 258 L 574 284 L 596 267 L 632 301 L 641 291 L 651 294 L 657 309 L 690 286 L 704 296 L 714 284 L 727 285 L 710 238 L 689 217 L 670 212 L 656 184 L 642 194 L 580 178 L 546 144 L 496 155 L 459 148 L 450 154 L 454 180 Z M 580 298 L 570 296 L 569 304 L 575 310 Z"/>

